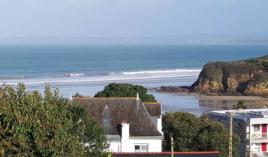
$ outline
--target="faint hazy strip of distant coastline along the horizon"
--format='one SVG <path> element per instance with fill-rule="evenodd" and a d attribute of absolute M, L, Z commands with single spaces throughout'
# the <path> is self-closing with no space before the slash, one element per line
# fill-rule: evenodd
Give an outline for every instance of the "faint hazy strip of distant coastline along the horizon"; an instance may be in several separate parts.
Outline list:
<path fill-rule="evenodd" d="M 155 37 L 13 37 L 0 44 L 268 44 L 268 34 L 184 34 Z"/>

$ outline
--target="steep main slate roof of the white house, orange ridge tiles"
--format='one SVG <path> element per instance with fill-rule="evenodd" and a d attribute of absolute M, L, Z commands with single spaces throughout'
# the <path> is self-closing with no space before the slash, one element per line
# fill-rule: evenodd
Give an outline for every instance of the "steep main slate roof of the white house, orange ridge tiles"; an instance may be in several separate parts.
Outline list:
<path fill-rule="evenodd" d="M 90 116 L 99 120 L 109 120 L 104 125 L 107 135 L 120 135 L 117 124 L 127 120 L 130 136 L 163 136 L 153 124 L 144 104 L 136 98 L 73 98 L 72 104 L 85 105 Z M 105 108 L 105 106 L 108 108 Z"/>

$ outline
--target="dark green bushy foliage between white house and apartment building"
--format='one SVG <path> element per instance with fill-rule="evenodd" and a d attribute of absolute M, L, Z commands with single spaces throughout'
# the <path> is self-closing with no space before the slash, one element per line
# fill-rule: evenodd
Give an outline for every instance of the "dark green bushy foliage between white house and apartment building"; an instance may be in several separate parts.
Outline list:
<path fill-rule="evenodd" d="M 228 156 L 229 130 L 207 114 L 197 117 L 188 112 L 166 112 L 162 120 L 163 150 L 170 151 L 173 136 L 174 151 L 220 151 L 220 157 Z M 235 149 L 239 143 L 239 136 L 234 134 L 233 156 L 239 156 Z"/>

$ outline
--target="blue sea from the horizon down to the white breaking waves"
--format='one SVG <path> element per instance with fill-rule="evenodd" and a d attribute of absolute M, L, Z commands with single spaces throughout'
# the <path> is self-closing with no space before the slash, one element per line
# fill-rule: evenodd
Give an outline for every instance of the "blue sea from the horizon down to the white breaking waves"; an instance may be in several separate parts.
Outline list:
<path fill-rule="evenodd" d="M 209 61 L 267 53 L 268 45 L 0 45 L 0 81 L 44 84 L 196 78 Z"/>

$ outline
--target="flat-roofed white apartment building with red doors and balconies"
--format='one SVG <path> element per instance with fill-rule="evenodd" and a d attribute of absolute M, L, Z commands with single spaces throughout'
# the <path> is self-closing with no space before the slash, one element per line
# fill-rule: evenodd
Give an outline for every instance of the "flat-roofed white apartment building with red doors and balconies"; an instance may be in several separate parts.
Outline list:
<path fill-rule="evenodd" d="M 209 111 L 208 114 L 212 120 L 220 121 L 226 128 L 229 128 L 230 112 L 234 112 L 233 133 L 239 135 L 241 141 L 237 146 L 240 156 L 267 156 L 268 109 Z"/>

